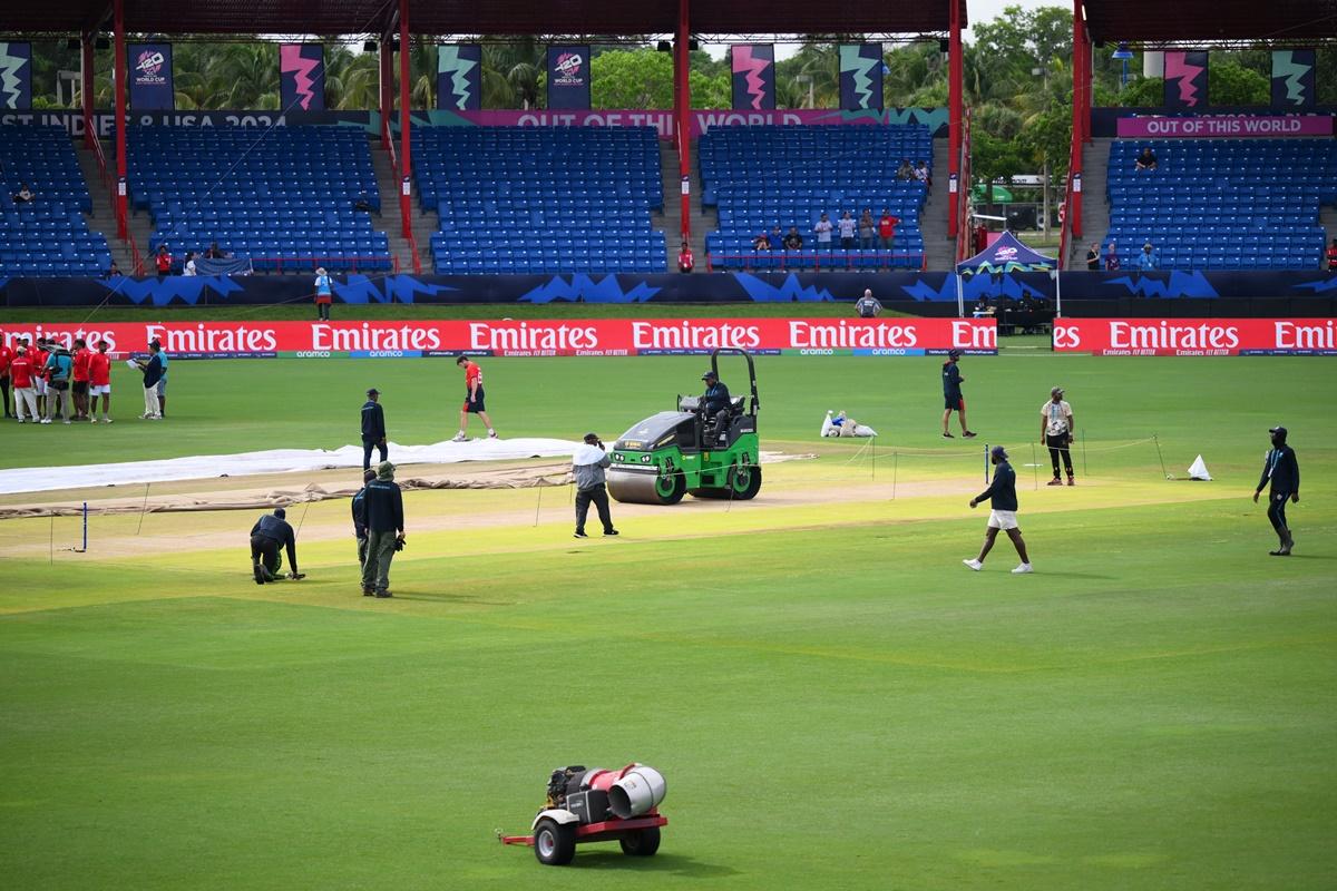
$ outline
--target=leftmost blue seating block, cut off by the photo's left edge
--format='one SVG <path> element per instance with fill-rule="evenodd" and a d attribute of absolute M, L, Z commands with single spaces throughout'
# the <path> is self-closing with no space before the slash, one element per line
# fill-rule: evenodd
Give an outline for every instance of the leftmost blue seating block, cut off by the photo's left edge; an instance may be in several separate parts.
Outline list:
<path fill-rule="evenodd" d="M 107 239 L 88 231 L 92 211 L 70 134 L 62 127 L 0 127 L 4 215 L 0 275 L 103 275 Z M 15 204 L 27 183 L 33 200 Z"/>

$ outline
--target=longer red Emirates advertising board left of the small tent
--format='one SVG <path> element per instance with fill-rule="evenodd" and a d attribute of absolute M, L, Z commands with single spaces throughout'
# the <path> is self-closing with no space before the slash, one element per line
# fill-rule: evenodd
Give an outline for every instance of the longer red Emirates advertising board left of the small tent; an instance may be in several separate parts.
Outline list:
<path fill-rule="evenodd" d="M 471 355 L 701 355 L 722 347 L 771 355 L 997 353 L 993 319 L 559 319 L 436 322 L 116 322 L 5 325 L 37 337 L 140 353 L 151 339 L 189 358 L 420 358 Z"/>

